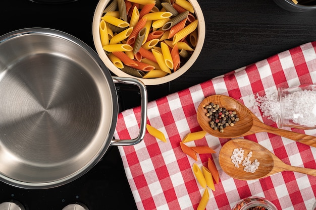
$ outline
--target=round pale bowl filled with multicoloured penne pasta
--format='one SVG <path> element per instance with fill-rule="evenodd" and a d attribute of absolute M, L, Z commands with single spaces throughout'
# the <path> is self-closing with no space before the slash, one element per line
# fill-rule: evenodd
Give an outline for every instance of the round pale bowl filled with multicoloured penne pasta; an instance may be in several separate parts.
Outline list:
<path fill-rule="evenodd" d="M 97 53 L 115 75 L 158 85 L 193 65 L 205 21 L 196 0 L 101 0 L 92 34 Z"/>

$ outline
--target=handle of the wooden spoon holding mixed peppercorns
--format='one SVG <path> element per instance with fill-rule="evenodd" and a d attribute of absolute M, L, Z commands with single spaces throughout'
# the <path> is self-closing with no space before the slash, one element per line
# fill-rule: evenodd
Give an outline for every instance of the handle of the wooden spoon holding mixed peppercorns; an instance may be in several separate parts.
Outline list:
<path fill-rule="evenodd" d="M 311 147 L 316 147 L 316 137 L 312 135 L 306 135 L 302 133 L 292 132 L 289 130 L 280 129 L 277 127 L 272 127 L 262 123 L 259 119 L 254 120 L 252 128 L 254 132 L 268 132 L 276 135 L 280 135 L 296 142 L 302 143 L 304 145 L 309 145 Z"/>

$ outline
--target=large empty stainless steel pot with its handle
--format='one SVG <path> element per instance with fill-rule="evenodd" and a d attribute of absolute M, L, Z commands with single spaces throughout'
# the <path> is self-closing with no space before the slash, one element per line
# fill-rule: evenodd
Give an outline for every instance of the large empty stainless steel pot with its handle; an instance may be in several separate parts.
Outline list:
<path fill-rule="evenodd" d="M 139 135 L 115 140 L 115 83 L 140 88 Z M 80 177 L 110 145 L 145 135 L 147 92 L 142 82 L 111 77 L 98 55 L 61 31 L 28 28 L 0 37 L 0 180 L 50 188 Z"/>

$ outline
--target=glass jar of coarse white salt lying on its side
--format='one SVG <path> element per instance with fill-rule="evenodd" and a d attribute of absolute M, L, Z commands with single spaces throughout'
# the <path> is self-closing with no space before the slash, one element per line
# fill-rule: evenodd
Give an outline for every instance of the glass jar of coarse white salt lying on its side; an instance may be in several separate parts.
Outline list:
<path fill-rule="evenodd" d="M 278 89 L 279 127 L 316 128 L 316 86 L 300 85 Z"/>

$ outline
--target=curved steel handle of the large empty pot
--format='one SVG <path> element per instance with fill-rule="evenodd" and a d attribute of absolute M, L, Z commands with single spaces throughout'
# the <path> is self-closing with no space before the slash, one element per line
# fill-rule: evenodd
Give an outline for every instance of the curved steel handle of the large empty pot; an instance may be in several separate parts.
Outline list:
<path fill-rule="evenodd" d="M 135 85 L 140 90 L 140 129 L 139 134 L 134 139 L 112 139 L 111 146 L 128 146 L 136 145 L 142 141 L 146 133 L 146 123 L 147 123 L 147 90 L 146 86 L 137 79 L 134 78 L 121 78 L 121 77 L 112 77 L 114 83 L 125 83 L 130 85 Z"/>

